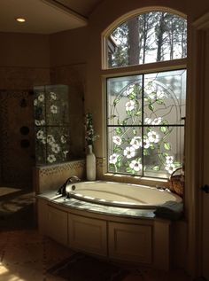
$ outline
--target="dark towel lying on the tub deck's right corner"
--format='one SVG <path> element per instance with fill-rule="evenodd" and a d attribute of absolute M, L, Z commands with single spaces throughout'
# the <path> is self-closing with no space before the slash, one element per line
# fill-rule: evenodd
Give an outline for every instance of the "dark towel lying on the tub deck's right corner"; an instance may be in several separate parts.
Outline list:
<path fill-rule="evenodd" d="M 154 214 L 173 221 L 179 220 L 183 215 L 183 203 L 166 201 L 163 205 L 156 207 Z"/>

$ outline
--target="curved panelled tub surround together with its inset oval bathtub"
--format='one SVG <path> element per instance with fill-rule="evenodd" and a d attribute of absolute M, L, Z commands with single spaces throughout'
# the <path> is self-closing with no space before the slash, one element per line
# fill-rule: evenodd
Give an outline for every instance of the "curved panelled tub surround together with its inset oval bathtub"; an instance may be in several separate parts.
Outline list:
<path fill-rule="evenodd" d="M 43 234 L 77 251 L 170 268 L 172 222 L 156 218 L 153 211 L 167 200 L 180 202 L 181 198 L 169 191 L 102 181 L 70 183 L 66 186 L 68 196 L 57 191 L 37 196 Z M 73 192 L 77 191 L 76 197 Z M 101 204 L 102 200 L 107 204 Z"/>

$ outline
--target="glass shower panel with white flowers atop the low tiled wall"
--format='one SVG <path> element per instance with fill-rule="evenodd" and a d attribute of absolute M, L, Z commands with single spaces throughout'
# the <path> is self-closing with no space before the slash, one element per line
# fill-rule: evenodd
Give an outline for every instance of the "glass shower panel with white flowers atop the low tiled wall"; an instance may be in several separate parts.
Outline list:
<path fill-rule="evenodd" d="M 34 88 L 36 166 L 69 160 L 69 97 L 66 85 Z"/>

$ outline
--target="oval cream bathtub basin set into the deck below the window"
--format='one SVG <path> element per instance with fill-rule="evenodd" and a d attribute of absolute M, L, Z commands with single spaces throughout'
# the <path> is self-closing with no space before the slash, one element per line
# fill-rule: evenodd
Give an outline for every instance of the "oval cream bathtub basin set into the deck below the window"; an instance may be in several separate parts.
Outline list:
<path fill-rule="evenodd" d="M 132 183 L 79 182 L 66 186 L 67 198 L 112 206 L 152 209 L 167 201 L 182 202 L 178 195 L 155 187 Z"/>

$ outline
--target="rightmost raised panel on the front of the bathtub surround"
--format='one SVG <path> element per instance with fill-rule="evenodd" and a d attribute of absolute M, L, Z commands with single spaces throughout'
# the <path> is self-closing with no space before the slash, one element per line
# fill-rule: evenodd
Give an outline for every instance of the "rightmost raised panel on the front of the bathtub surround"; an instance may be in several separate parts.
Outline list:
<path fill-rule="evenodd" d="M 111 258 L 151 264 L 151 226 L 109 222 Z"/>

